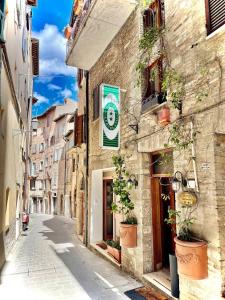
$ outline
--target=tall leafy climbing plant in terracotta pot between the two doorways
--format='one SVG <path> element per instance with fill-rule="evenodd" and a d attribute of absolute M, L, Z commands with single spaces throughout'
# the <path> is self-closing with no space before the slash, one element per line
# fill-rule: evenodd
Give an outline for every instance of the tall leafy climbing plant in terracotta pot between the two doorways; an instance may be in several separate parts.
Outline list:
<path fill-rule="evenodd" d="M 112 211 L 123 216 L 123 221 L 120 223 L 120 245 L 135 248 L 137 246 L 137 219 L 133 215 L 134 203 L 131 200 L 130 190 L 137 185 L 137 181 L 129 176 L 122 156 L 113 156 L 112 159 L 116 169 L 113 192 L 118 196 L 118 201 L 112 204 Z"/>

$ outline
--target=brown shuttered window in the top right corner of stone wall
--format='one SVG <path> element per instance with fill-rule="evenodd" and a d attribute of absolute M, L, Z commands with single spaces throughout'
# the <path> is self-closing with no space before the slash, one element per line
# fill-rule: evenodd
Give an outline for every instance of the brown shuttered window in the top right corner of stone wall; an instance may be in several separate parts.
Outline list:
<path fill-rule="evenodd" d="M 225 24 L 225 1 L 205 0 L 207 34 Z"/>

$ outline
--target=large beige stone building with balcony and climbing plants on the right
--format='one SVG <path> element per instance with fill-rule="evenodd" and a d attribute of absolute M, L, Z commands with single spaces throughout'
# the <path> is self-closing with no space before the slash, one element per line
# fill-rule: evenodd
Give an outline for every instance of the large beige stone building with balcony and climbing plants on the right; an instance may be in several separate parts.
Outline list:
<path fill-rule="evenodd" d="M 220 299 L 225 290 L 224 3 L 95 0 L 85 1 L 80 11 L 77 2 L 67 63 L 86 70 L 79 99 L 88 116 L 88 244 L 102 253 L 96 244 L 119 235 L 119 219 L 105 211 L 104 195 L 115 201 L 112 155 L 123 155 L 138 180 L 132 191 L 138 239 L 136 248 L 122 247 L 122 268 L 168 291 L 174 241 L 164 219 L 169 207 L 179 209 L 171 184 L 179 171 L 198 198 L 193 232 L 208 242 L 208 277 L 194 281 L 181 275 L 180 299 Z M 101 144 L 102 83 L 120 89 L 119 150 Z"/>

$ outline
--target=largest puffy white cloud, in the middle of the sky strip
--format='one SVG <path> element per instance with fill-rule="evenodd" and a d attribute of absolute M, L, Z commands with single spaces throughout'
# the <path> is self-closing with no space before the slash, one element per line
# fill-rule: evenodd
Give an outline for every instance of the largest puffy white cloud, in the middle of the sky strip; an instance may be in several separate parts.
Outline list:
<path fill-rule="evenodd" d="M 75 77 L 76 69 L 65 64 L 67 40 L 57 26 L 46 24 L 43 30 L 34 32 L 33 36 L 40 41 L 40 82 L 50 82 L 57 75 Z"/>

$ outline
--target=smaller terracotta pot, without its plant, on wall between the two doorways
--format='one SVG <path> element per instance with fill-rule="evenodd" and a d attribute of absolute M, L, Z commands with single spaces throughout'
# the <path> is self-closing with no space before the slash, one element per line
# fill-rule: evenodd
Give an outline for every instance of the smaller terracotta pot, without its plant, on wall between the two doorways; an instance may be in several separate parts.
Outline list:
<path fill-rule="evenodd" d="M 125 248 L 137 247 L 137 225 L 120 223 L 120 245 Z"/>

